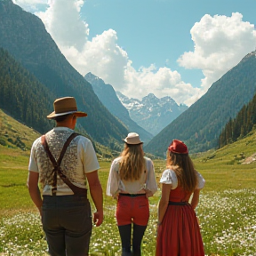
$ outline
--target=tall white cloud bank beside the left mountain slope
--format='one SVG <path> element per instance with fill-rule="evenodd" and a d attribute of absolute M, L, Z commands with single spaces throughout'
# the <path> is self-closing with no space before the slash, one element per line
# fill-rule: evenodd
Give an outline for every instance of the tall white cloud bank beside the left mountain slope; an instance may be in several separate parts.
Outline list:
<path fill-rule="evenodd" d="M 67 2 L 68 1 L 68 2 Z M 49 2 L 46 12 L 36 13 L 58 44 L 60 51 L 83 76 L 92 72 L 122 91 L 124 71 L 129 63 L 127 53 L 118 46 L 116 31 L 108 29 L 88 41 L 89 27 L 80 19 L 83 0 Z M 79 8 L 77 4 L 79 3 Z"/>

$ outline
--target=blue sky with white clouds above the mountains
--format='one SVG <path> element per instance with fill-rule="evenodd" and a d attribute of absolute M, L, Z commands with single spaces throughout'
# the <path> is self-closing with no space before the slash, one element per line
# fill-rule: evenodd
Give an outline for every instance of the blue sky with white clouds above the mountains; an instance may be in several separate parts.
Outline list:
<path fill-rule="evenodd" d="M 70 64 L 129 98 L 191 106 L 256 50 L 256 0 L 12 0 Z"/>

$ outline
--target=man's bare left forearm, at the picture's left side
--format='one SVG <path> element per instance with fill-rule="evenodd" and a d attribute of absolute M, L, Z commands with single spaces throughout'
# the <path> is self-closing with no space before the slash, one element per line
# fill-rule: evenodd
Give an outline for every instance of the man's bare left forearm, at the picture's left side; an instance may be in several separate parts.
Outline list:
<path fill-rule="evenodd" d="M 28 173 L 28 191 L 29 195 L 36 205 L 38 211 L 40 212 L 40 215 L 42 216 L 42 204 L 43 200 L 41 197 L 41 192 L 38 188 L 38 179 L 39 179 L 39 173 L 38 172 L 29 172 Z"/>

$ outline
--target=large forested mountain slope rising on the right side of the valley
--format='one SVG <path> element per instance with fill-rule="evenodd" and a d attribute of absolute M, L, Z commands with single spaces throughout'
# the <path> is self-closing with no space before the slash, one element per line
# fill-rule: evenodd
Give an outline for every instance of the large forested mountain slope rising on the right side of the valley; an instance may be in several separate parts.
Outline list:
<path fill-rule="evenodd" d="M 213 83 L 203 97 L 158 133 L 145 151 L 164 156 L 173 139 L 186 142 L 191 153 L 217 148 L 222 128 L 256 92 L 255 53 L 247 54 Z"/>

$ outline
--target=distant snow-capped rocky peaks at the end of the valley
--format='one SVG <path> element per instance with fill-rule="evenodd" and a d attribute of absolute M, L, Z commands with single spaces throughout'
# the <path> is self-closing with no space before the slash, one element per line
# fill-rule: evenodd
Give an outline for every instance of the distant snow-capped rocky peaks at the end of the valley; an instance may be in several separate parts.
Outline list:
<path fill-rule="evenodd" d="M 158 99 L 153 93 L 149 93 L 142 100 L 128 98 L 121 92 L 116 92 L 116 95 L 128 109 L 132 120 L 153 135 L 161 132 L 166 125 L 171 124 L 188 109 L 184 104 L 179 106 L 171 97 Z"/>

